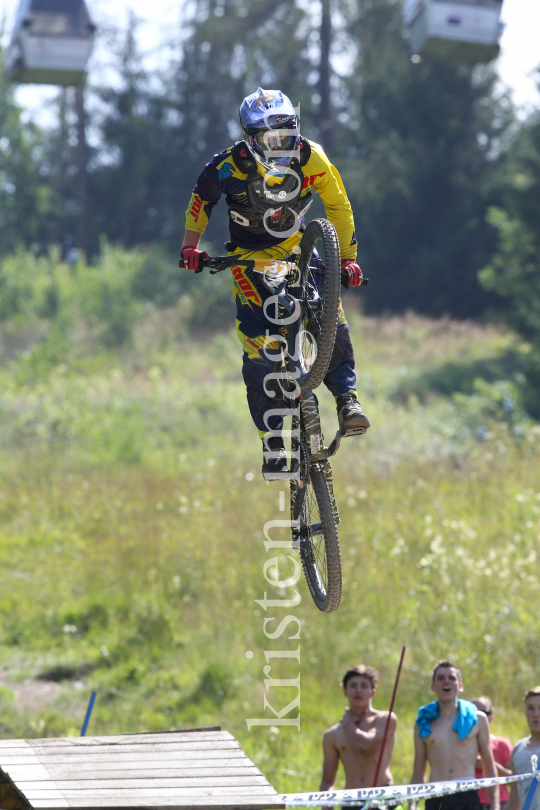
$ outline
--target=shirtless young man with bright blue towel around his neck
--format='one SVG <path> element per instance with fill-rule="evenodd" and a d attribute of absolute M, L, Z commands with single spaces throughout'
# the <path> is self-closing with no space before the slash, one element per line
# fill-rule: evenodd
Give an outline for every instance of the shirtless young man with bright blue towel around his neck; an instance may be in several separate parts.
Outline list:
<path fill-rule="evenodd" d="M 459 701 L 463 691 L 461 673 L 450 661 L 439 661 L 433 670 L 431 691 L 437 703 L 420 709 L 414 727 L 414 769 L 411 784 L 426 781 L 426 766 L 431 768 L 430 782 L 474 779 L 476 758 L 480 754 L 484 775 L 497 776 L 489 743 L 489 723 L 483 712 L 468 701 Z M 421 716 L 432 715 L 426 726 Z M 475 719 L 476 715 L 476 719 Z M 421 726 L 423 727 L 421 729 Z M 457 728 L 455 728 L 457 726 Z M 488 788 L 491 810 L 499 810 L 499 788 Z M 416 802 L 409 804 L 415 810 Z M 481 810 L 476 790 L 427 799 L 426 810 Z"/>

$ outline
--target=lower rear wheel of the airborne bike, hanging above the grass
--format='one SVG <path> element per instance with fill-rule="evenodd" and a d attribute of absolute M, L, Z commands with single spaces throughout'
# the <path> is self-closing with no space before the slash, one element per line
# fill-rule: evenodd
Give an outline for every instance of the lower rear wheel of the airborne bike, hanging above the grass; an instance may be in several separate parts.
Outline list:
<path fill-rule="evenodd" d="M 293 441 L 295 449 L 300 455 L 296 468 L 300 480 L 291 479 L 291 518 L 297 525 L 293 540 L 299 541 L 313 601 L 319 610 L 331 613 L 341 601 L 341 556 L 332 499 L 321 465 L 309 464 L 306 443 Z"/>

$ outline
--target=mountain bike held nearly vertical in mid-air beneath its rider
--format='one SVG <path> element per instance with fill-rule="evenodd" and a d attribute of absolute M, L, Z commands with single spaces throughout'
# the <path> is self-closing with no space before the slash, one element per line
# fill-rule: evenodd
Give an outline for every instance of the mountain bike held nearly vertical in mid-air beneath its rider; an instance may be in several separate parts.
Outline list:
<path fill-rule="evenodd" d="M 334 226 L 326 219 L 309 223 L 300 245 L 289 254 L 275 248 L 276 259 L 253 259 L 248 252 L 217 256 L 199 264 L 211 274 L 241 265 L 261 273 L 274 292 L 280 358 L 273 378 L 279 382 L 292 416 L 289 472 L 292 545 L 298 549 L 306 581 L 319 610 L 331 613 L 341 600 L 341 557 L 330 458 L 344 435 L 324 444 L 316 389 L 328 371 L 336 338 L 340 302 L 340 253 Z M 180 266 L 183 262 L 180 260 Z M 367 284 L 368 279 L 363 283 Z M 365 433 L 365 428 L 345 435 Z M 288 454 L 289 455 L 289 454 Z"/>

